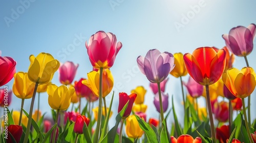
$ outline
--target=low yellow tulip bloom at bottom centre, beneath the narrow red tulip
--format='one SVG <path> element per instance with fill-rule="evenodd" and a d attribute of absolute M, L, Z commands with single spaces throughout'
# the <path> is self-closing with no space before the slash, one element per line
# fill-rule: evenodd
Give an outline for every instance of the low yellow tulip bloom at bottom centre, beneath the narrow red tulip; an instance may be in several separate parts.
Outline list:
<path fill-rule="evenodd" d="M 126 118 L 125 131 L 127 136 L 131 138 L 138 138 L 143 135 L 143 130 L 140 128 L 135 115 L 130 115 Z"/>

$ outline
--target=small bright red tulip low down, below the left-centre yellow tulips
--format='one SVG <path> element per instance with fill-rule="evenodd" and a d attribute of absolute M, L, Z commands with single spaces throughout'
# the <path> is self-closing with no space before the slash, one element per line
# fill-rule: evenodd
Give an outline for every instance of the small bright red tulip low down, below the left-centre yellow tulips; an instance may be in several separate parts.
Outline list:
<path fill-rule="evenodd" d="M 90 123 L 90 119 L 84 115 L 78 115 L 76 117 L 75 125 L 74 125 L 74 132 L 77 134 L 82 134 L 82 128 L 84 123 L 88 126 Z"/>

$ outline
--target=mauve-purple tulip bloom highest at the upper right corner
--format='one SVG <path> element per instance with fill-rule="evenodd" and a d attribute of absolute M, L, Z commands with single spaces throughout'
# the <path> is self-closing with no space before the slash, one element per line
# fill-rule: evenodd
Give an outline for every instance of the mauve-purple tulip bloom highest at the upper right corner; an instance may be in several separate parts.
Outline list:
<path fill-rule="evenodd" d="M 247 28 L 243 26 L 232 28 L 229 34 L 223 34 L 222 37 L 229 51 L 234 55 L 244 57 L 249 55 L 253 49 L 255 32 L 256 25 L 252 23 Z"/>

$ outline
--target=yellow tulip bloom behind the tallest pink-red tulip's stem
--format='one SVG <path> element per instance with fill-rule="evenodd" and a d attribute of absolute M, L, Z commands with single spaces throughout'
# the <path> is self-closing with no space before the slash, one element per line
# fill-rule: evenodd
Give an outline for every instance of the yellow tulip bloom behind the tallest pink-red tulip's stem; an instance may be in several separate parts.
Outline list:
<path fill-rule="evenodd" d="M 95 96 L 99 97 L 99 71 L 91 71 L 87 74 L 88 80 L 83 80 L 82 84 L 88 86 Z M 102 98 L 108 96 L 114 85 L 114 78 L 109 69 L 102 72 Z"/>

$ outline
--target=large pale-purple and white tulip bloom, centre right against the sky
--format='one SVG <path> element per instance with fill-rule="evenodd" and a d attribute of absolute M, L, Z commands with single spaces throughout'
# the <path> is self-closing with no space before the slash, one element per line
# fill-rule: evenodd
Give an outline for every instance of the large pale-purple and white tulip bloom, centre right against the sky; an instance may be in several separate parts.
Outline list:
<path fill-rule="evenodd" d="M 141 73 L 152 83 L 162 82 L 175 66 L 173 54 L 160 53 L 157 49 L 148 51 L 145 57 L 139 56 L 137 63 Z"/>

